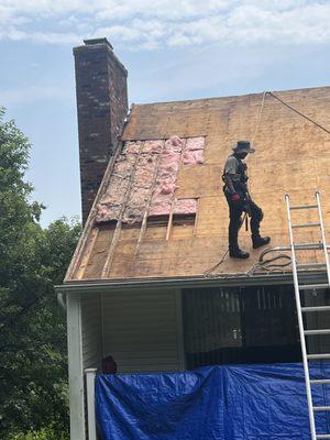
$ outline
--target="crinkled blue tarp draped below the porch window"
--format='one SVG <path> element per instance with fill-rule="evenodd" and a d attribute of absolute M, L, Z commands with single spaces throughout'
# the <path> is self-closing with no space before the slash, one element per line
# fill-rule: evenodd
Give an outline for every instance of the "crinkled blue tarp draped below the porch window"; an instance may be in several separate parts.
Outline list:
<path fill-rule="evenodd" d="M 316 405 L 330 404 L 329 385 L 314 389 Z M 102 440 L 310 440 L 301 364 L 98 375 L 96 406 Z M 329 413 L 317 427 L 330 433 Z"/>

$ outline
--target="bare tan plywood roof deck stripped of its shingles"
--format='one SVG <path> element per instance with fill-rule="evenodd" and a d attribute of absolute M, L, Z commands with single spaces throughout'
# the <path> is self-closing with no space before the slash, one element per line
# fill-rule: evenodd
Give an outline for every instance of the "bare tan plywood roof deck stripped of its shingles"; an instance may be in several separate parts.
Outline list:
<path fill-rule="evenodd" d="M 330 128 L 330 87 L 277 92 L 309 118 Z M 213 266 L 228 249 L 229 213 L 222 194 L 223 163 L 238 140 L 251 140 L 257 123 L 262 94 L 194 101 L 133 106 L 122 141 L 187 139 L 205 136 L 204 164 L 180 166 L 177 198 L 198 199 L 195 224 L 175 222 L 168 233 L 164 224 L 123 227 L 113 246 L 113 224 L 96 222 L 96 205 L 74 255 L 66 282 L 84 279 L 166 278 L 198 276 Z M 272 246 L 288 245 L 284 195 L 294 204 L 309 204 L 318 189 L 322 197 L 326 229 L 330 221 L 330 135 L 267 97 L 256 153 L 249 157 L 250 193 L 264 211 L 262 233 L 272 237 Z M 107 191 L 116 158 L 109 164 L 98 198 Z M 311 220 L 311 211 L 297 212 Z M 329 234 L 328 234 L 329 235 Z M 317 230 L 296 234 L 301 242 L 318 241 Z M 112 243 L 112 245 L 111 245 Z M 241 248 L 251 257 L 227 257 L 219 274 L 244 274 L 257 261 L 261 250 L 252 250 L 250 232 L 240 232 Z M 111 250 L 111 251 L 110 251 Z M 105 263 L 113 252 L 105 273 Z M 305 256 L 302 256 L 302 260 Z"/>

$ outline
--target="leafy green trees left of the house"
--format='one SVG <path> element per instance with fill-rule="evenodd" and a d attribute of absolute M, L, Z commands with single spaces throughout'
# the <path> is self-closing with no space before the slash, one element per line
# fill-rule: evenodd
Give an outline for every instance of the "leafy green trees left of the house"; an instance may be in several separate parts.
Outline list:
<path fill-rule="evenodd" d="M 40 226 L 43 206 L 24 180 L 29 152 L 0 109 L 0 438 L 68 426 L 65 312 L 53 286 L 80 226 L 65 218 Z"/>

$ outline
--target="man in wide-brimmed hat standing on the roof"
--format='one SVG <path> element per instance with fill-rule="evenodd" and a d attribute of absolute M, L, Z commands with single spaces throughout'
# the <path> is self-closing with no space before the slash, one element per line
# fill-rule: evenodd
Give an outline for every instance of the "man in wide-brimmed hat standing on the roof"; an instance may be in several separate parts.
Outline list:
<path fill-rule="evenodd" d="M 242 213 L 246 212 L 250 218 L 253 249 L 264 246 L 271 241 L 270 237 L 261 237 L 260 223 L 263 219 L 262 209 L 254 204 L 248 190 L 246 164 L 242 161 L 249 153 L 254 153 L 249 141 L 239 141 L 232 148 L 226 161 L 222 179 L 224 182 L 223 193 L 229 205 L 229 255 L 233 258 L 249 258 L 249 252 L 239 246 L 239 230 L 242 224 Z"/>

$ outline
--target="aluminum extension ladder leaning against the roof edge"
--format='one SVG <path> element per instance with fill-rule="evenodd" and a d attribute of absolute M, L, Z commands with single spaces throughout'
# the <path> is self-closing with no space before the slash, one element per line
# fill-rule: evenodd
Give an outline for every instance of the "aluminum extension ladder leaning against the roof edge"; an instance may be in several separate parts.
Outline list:
<path fill-rule="evenodd" d="M 328 246 L 327 246 L 327 242 L 326 242 L 324 226 L 323 226 L 323 218 L 322 218 L 319 191 L 317 191 L 315 194 L 315 197 L 316 197 L 315 205 L 290 206 L 289 196 L 288 195 L 285 196 L 286 207 L 287 207 L 288 227 L 289 227 L 293 276 L 294 276 L 294 285 L 295 285 L 295 296 L 296 296 L 297 316 L 298 316 L 302 363 L 304 363 L 304 372 L 305 372 L 305 383 L 306 383 L 306 393 L 307 393 L 307 402 L 308 402 L 308 414 L 309 414 L 311 440 L 330 439 L 330 432 L 329 433 L 316 433 L 316 422 L 315 422 L 315 413 L 316 411 L 330 411 L 330 406 L 314 406 L 312 395 L 311 395 L 311 386 L 330 384 L 330 378 L 328 378 L 328 380 L 327 378 L 311 380 L 309 376 L 309 364 L 308 364 L 309 361 L 318 361 L 318 360 L 322 361 L 324 359 L 330 359 L 330 354 L 322 354 L 322 353 L 308 354 L 307 348 L 306 348 L 306 339 L 305 339 L 306 336 L 330 334 L 330 329 L 305 330 L 304 320 L 302 320 L 302 314 L 330 311 L 330 306 L 301 307 L 301 301 L 300 301 L 300 290 L 315 292 L 317 289 L 323 289 L 323 288 L 330 287 L 329 255 L 328 255 Z M 292 211 L 300 210 L 300 209 L 316 209 L 318 212 L 318 221 L 309 222 L 309 223 L 293 224 Z M 296 229 L 296 228 L 314 228 L 314 227 L 319 228 L 319 230 L 320 230 L 321 241 L 319 243 L 297 243 L 297 244 L 295 244 L 294 232 L 293 232 L 294 229 Z M 324 262 L 323 263 L 299 264 L 296 260 L 296 251 L 297 250 L 323 250 Z M 298 270 L 320 268 L 320 267 L 324 267 L 327 270 L 328 284 L 309 284 L 309 285 L 307 285 L 307 284 L 299 283 L 298 272 L 297 272 Z"/>

